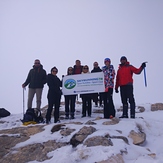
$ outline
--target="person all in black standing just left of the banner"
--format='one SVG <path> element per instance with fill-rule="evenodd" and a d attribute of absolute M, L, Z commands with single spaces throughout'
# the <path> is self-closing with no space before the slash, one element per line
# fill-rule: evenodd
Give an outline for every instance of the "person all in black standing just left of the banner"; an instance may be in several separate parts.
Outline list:
<path fill-rule="evenodd" d="M 59 107 L 61 101 L 61 89 L 62 82 L 57 77 L 58 69 L 53 67 L 51 69 L 51 73 L 47 75 L 47 85 L 49 87 L 48 90 L 48 109 L 46 113 L 46 123 L 49 124 L 51 121 L 51 113 L 54 106 L 54 123 L 59 122 Z"/>

